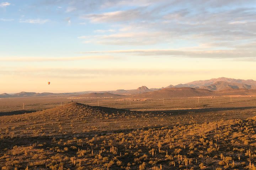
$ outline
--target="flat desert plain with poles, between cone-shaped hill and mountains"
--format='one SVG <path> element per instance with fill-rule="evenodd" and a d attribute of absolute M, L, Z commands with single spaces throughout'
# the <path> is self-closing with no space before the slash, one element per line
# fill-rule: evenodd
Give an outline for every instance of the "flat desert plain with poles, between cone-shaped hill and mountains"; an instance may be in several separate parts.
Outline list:
<path fill-rule="evenodd" d="M 129 110 L 169 110 L 188 108 L 256 107 L 256 96 L 180 97 L 180 98 L 111 98 L 111 97 L 14 97 L 0 99 L 0 114 L 41 111 L 69 102 Z M 23 111 L 23 103 L 24 110 Z M 10 113 L 11 112 L 11 113 Z"/>

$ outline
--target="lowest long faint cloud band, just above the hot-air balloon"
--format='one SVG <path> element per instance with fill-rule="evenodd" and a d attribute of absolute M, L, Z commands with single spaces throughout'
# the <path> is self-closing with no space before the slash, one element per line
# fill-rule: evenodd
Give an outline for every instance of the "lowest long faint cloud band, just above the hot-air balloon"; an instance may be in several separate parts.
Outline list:
<path fill-rule="evenodd" d="M 217 69 L 216 69 L 217 70 Z M 116 77 L 116 76 L 158 76 L 170 74 L 199 74 L 211 73 L 215 70 L 202 69 L 154 69 L 154 68 L 16 68 L 14 70 L 2 69 L 0 74 L 5 75 L 34 75 L 34 76 L 51 76 L 62 78 L 82 79 L 96 77 Z"/>

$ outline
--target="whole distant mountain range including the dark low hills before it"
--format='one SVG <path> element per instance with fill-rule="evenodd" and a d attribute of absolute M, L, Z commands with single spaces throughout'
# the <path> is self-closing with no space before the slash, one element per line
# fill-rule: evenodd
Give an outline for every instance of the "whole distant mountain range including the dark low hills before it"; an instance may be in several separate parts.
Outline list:
<path fill-rule="evenodd" d="M 181 88 L 190 87 L 190 88 Z M 169 89 L 169 90 L 168 90 Z M 171 90 L 170 90 L 171 89 Z M 218 96 L 220 94 L 228 95 L 254 95 L 256 90 L 255 80 L 241 80 L 231 78 L 217 78 L 210 80 L 192 81 L 186 84 L 169 85 L 161 88 L 151 88 L 146 86 L 138 87 L 132 90 L 112 90 L 112 91 L 82 91 L 74 93 L 36 93 L 36 92 L 20 92 L 17 94 L 0 94 L 0 98 L 9 97 L 49 97 L 49 96 L 78 96 L 78 97 L 123 97 L 130 95 L 131 97 L 157 97 L 157 96 L 176 96 L 176 97 L 193 97 L 193 96 Z M 142 95 L 143 94 L 143 95 Z"/>

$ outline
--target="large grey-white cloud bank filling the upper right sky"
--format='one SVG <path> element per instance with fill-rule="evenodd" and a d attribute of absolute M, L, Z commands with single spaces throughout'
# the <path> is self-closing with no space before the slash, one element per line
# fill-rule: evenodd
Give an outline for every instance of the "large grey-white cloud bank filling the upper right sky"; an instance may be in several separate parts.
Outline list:
<path fill-rule="evenodd" d="M 72 24 L 86 24 L 78 41 L 98 45 L 99 49 L 110 45 L 111 49 L 140 46 L 159 51 L 142 50 L 126 55 L 191 58 L 255 55 L 255 48 L 250 45 L 256 42 L 256 7 L 252 1 L 39 0 L 37 3 L 54 9 L 61 6 L 64 11 L 58 12 L 72 15 Z M 70 24 L 71 19 L 67 22 Z"/>

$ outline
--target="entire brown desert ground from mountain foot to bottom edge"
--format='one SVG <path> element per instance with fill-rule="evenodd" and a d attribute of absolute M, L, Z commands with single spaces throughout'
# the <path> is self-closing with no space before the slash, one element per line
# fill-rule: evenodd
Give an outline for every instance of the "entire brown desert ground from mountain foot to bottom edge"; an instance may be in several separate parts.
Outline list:
<path fill-rule="evenodd" d="M 0 168 L 255 169 L 255 102 L 253 96 L 1 98 Z"/>

